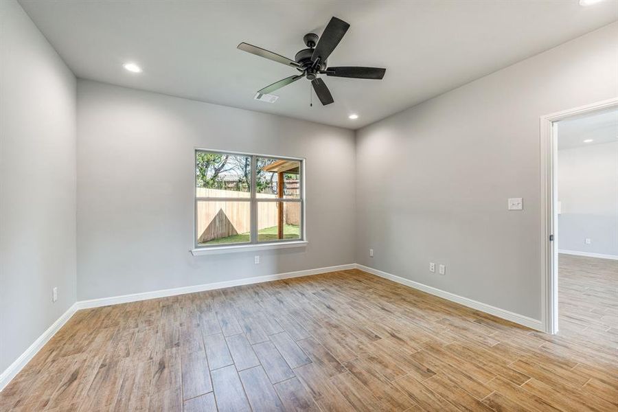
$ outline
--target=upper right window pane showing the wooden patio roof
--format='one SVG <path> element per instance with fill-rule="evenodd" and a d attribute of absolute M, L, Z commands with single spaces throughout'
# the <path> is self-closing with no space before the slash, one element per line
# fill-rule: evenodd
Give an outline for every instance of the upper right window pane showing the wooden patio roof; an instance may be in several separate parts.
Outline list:
<path fill-rule="evenodd" d="M 300 198 L 299 161 L 258 157 L 257 162 L 255 185 L 258 198 Z"/>

